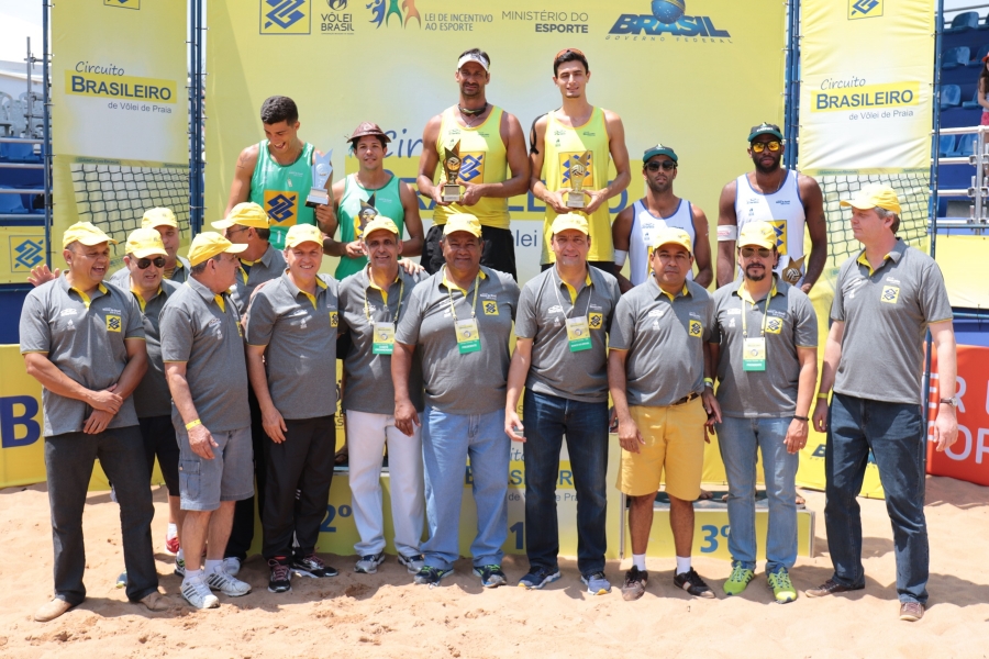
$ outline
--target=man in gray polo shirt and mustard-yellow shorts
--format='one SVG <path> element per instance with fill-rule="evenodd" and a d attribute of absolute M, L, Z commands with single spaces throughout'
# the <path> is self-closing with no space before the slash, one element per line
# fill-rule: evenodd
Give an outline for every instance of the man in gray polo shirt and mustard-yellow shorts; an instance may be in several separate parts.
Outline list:
<path fill-rule="evenodd" d="M 690 551 L 704 428 L 709 420 L 721 422 L 718 401 L 704 380 L 713 373 L 704 344 L 711 336 L 714 304 L 708 291 L 687 280 L 693 266 L 687 232 L 659 228 L 653 246 L 653 276 L 619 302 L 608 355 L 608 383 L 622 445 L 618 484 L 631 499 L 632 569 L 622 596 L 637 600 L 645 592 L 653 503 L 665 472 L 677 552 L 674 583 L 691 595 L 713 597 L 690 567 Z"/>

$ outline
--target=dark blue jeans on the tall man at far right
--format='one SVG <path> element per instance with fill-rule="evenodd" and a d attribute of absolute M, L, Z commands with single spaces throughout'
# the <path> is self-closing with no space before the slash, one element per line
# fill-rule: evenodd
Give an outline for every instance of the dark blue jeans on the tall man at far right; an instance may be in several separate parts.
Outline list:
<path fill-rule="evenodd" d="M 834 580 L 864 585 L 858 496 L 869 449 L 879 467 L 892 523 L 900 602 L 927 601 L 924 518 L 924 423 L 920 404 L 885 403 L 835 393 L 827 415 L 824 524 Z"/>

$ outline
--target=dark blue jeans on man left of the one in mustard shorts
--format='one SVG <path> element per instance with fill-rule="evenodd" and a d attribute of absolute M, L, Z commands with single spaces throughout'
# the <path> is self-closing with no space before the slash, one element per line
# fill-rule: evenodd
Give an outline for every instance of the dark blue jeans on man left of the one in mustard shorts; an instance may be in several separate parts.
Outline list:
<path fill-rule="evenodd" d="M 557 568 L 556 479 L 564 434 L 577 493 L 577 568 L 604 570 L 608 540 L 608 403 L 582 403 L 525 390 L 525 551 L 532 568 Z"/>

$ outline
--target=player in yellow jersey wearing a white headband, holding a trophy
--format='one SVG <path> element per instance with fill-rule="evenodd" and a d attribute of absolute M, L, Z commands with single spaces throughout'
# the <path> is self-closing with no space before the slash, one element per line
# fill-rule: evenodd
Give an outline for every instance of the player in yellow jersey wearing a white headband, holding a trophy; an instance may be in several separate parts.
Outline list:
<path fill-rule="evenodd" d="M 515 272 L 515 241 L 509 230 L 508 198 L 529 189 L 529 159 L 522 125 L 512 114 L 488 103 L 485 87 L 491 80 L 491 58 L 478 48 L 460 54 L 455 79 L 460 88 L 456 105 L 447 108 L 426 124 L 419 160 L 419 193 L 430 199 L 433 226 L 426 233 L 422 266 L 436 272 L 445 263 L 440 238 L 446 219 L 470 213 L 481 224 L 481 265 L 511 275 Z M 459 143 L 464 188 L 459 203 L 443 201 L 443 149 Z M 509 178 L 511 171 L 511 178 Z M 438 182 L 434 183 L 436 180 Z"/>

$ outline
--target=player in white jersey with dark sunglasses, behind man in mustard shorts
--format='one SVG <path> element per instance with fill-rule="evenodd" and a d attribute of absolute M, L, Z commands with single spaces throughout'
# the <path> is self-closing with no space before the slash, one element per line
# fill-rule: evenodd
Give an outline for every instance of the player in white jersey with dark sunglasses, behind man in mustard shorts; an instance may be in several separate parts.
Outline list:
<path fill-rule="evenodd" d="M 679 161 L 673 148 L 657 144 L 642 156 L 642 178 L 646 196 L 626 206 L 614 219 L 611 237 L 614 242 L 615 275 L 624 293 L 649 277 L 649 256 L 656 232 L 663 227 L 681 228 L 693 245 L 697 275 L 687 278 L 707 287 L 714 279 L 711 268 L 711 242 L 708 239 L 708 219 L 704 212 L 673 191 Z M 698 239 L 700 236 L 701 239 Z M 620 272 L 629 258 L 629 277 Z"/>

